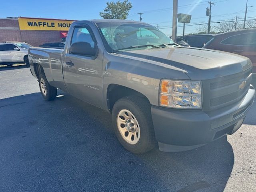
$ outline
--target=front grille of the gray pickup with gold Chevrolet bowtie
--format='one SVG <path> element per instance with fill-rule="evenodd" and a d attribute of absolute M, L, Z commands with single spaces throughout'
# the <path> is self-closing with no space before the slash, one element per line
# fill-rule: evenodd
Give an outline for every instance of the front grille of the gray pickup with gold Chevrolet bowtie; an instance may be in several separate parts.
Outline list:
<path fill-rule="evenodd" d="M 248 92 L 251 80 L 251 70 L 217 79 L 204 80 L 202 82 L 203 109 L 205 111 L 214 110 L 241 100 Z"/>

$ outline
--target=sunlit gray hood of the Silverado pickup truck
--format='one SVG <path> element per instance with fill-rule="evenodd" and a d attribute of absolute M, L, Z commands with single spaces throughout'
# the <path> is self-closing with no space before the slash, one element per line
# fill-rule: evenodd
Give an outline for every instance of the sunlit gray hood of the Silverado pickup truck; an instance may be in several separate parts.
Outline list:
<path fill-rule="evenodd" d="M 120 54 L 174 66 L 185 72 L 191 80 L 212 79 L 252 68 L 251 61 L 246 57 L 201 48 L 154 48 L 130 50 Z"/>

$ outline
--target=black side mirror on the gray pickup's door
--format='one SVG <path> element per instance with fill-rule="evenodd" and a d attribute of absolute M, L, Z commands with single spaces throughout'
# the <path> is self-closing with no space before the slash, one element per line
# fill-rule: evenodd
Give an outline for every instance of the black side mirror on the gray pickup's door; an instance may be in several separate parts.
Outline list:
<path fill-rule="evenodd" d="M 88 42 L 75 42 L 70 46 L 70 53 L 75 55 L 95 56 L 96 49 Z"/>

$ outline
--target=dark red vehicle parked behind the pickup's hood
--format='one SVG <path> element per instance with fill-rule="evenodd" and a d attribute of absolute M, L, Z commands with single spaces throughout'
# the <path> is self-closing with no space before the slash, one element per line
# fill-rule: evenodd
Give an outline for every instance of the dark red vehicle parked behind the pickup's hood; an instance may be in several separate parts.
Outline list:
<path fill-rule="evenodd" d="M 231 52 L 250 58 L 256 80 L 256 28 L 214 35 L 203 48 Z"/>

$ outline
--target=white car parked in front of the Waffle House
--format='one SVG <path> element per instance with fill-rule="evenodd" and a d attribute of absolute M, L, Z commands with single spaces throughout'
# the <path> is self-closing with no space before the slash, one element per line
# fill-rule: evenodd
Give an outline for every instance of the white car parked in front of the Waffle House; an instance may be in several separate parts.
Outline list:
<path fill-rule="evenodd" d="M 25 42 L 5 42 L 0 43 L 0 65 L 12 66 L 17 63 L 28 62 L 28 48 L 32 47 Z"/>

